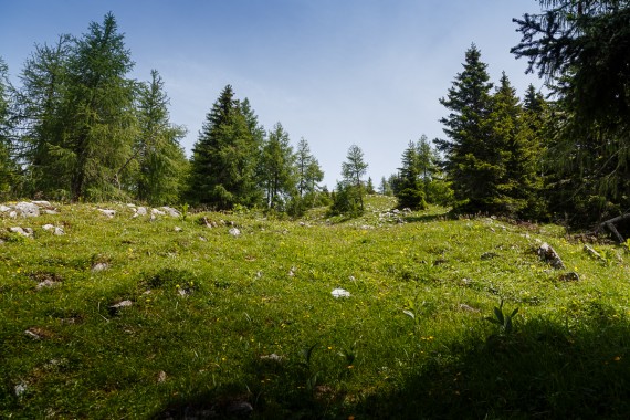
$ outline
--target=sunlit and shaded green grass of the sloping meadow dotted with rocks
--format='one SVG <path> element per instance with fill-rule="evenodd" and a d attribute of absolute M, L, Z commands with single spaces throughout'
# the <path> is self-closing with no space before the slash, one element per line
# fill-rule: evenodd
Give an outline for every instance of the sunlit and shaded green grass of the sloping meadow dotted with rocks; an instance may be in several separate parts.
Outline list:
<path fill-rule="evenodd" d="M 0 418 L 229 417 L 239 402 L 253 419 L 630 412 L 623 248 L 597 245 L 600 261 L 555 225 L 379 217 L 393 204 L 371 197 L 353 220 L 151 222 L 124 204 L 107 204 L 114 219 L 86 204 L 1 219 Z M 518 308 L 512 330 L 486 319 L 502 300 Z"/>

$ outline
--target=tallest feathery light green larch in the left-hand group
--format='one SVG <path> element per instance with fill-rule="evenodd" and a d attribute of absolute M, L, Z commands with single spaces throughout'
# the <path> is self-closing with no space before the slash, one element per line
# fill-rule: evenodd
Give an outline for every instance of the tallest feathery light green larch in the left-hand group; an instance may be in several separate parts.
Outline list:
<path fill-rule="evenodd" d="M 132 153 L 136 136 L 134 63 L 116 19 L 92 22 L 76 40 L 69 63 L 64 144 L 71 161 L 72 199 L 104 200 L 116 193 L 112 180 Z"/>

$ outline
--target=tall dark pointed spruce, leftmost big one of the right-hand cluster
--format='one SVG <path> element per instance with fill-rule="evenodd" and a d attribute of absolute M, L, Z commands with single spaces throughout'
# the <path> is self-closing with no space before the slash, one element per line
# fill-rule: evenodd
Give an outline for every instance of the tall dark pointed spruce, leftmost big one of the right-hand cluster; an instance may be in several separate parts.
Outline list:
<path fill-rule="evenodd" d="M 448 96 L 440 99 L 450 114 L 440 120 L 448 138 L 438 140 L 438 148 L 444 154 L 458 209 L 494 211 L 497 181 L 503 174 L 489 124 L 492 83 L 474 44 L 465 53 L 463 67 Z"/>

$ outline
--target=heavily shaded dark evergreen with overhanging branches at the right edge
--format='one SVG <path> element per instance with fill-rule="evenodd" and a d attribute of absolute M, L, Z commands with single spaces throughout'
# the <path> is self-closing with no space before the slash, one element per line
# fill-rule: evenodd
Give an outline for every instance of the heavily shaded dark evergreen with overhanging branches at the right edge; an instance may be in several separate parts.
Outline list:
<path fill-rule="evenodd" d="M 630 207 L 630 4 L 540 0 L 542 12 L 515 19 L 512 49 L 538 70 L 557 99 L 548 123 L 556 212 L 584 224 Z"/>

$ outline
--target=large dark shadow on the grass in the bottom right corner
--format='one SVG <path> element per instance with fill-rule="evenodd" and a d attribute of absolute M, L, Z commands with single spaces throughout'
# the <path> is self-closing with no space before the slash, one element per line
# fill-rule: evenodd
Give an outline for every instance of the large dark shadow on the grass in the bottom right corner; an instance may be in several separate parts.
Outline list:
<path fill-rule="evenodd" d="M 627 419 L 629 345 L 626 322 L 531 321 L 435 355 L 398 390 L 363 401 L 357 418 Z"/>

